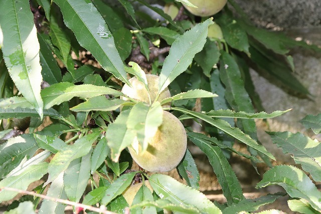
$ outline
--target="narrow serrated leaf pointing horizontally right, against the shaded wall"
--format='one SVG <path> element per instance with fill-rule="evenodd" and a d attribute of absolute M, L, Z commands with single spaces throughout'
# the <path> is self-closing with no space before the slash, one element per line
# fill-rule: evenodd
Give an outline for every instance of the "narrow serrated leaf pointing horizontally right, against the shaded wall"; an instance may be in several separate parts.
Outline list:
<path fill-rule="evenodd" d="M 292 109 L 288 109 L 285 111 L 275 111 L 271 114 L 267 114 L 265 112 L 260 113 L 247 113 L 247 112 L 233 112 L 232 110 L 211 110 L 206 115 L 212 118 L 242 118 L 242 119 L 267 119 L 267 118 L 275 118 L 284 113 L 291 111 Z"/>

